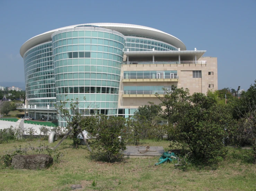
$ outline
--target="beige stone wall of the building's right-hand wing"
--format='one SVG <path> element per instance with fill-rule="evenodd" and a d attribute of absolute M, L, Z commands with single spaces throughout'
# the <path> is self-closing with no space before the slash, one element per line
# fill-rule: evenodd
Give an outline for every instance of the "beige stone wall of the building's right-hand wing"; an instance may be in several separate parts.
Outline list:
<path fill-rule="evenodd" d="M 122 74 L 124 71 L 165 71 L 177 70 L 178 82 L 121 82 L 119 108 L 138 108 L 141 105 L 148 104 L 148 101 L 160 103 L 158 98 L 123 98 L 123 86 L 171 86 L 176 85 L 178 88 L 188 88 L 192 94 L 194 92 L 206 93 L 208 89 L 218 89 L 218 70 L 216 57 L 202 57 L 198 61 L 206 61 L 206 64 L 123 64 Z M 202 78 L 193 78 L 193 70 L 201 70 Z M 208 75 L 213 72 L 213 75 Z M 209 88 L 213 84 L 213 88 Z"/>

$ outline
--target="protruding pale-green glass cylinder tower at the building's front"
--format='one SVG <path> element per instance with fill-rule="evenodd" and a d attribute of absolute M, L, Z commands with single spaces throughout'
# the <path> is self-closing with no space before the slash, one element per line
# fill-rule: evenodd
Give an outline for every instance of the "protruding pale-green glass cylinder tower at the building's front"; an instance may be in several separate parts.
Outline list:
<path fill-rule="evenodd" d="M 78 98 L 82 112 L 89 107 L 90 113 L 116 115 L 124 38 L 119 32 L 91 27 L 53 33 L 57 103 Z"/>

